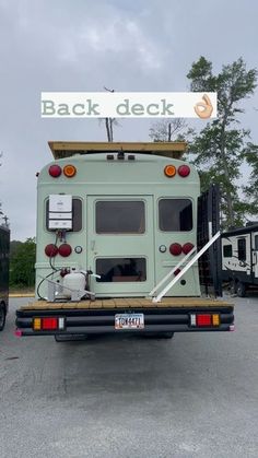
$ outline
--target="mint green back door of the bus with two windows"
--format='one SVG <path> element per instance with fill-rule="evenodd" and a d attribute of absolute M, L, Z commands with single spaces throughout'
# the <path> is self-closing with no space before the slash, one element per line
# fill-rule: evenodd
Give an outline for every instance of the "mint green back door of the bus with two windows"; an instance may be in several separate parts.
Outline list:
<path fill-rule="evenodd" d="M 153 197 L 87 196 L 87 268 L 96 296 L 144 296 L 154 286 Z"/>

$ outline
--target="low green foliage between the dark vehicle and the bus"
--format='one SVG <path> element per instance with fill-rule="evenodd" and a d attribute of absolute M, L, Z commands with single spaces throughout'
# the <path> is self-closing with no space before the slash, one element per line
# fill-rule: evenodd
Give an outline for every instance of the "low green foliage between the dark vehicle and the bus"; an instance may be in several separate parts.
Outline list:
<path fill-rule="evenodd" d="M 26 242 L 12 240 L 10 249 L 10 284 L 31 287 L 35 283 L 35 238 Z"/>

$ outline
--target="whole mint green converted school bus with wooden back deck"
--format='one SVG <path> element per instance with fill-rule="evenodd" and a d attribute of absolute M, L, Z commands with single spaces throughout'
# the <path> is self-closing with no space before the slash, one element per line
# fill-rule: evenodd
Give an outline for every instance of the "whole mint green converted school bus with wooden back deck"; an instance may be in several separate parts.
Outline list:
<path fill-rule="evenodd" d="M 186 143 L 49 146 L 54 161 L 38 174 L 36 301 L 16 312 L 17 336 L 234 329 L 233 305 L 201 296 L 200 181 L 181 157 Z"/>

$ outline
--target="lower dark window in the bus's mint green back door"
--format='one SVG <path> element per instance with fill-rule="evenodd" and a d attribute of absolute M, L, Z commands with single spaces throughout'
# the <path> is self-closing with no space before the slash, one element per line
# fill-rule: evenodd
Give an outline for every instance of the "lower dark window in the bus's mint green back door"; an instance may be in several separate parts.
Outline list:
<path fill-rule="evenodd" d="M 97 282 L 142 282 L 146 280 L 144 258 L 103 258 L 96 260 Z"/>

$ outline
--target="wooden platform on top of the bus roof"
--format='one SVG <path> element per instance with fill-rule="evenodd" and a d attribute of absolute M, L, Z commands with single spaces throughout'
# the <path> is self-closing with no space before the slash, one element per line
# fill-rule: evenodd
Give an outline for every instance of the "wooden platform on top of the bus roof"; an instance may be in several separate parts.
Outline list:
<path fill-rule="evenodd" d="M 103 153 L 107 151 L 155 154 L 180 158 L 187 150 L 186 142 L 77 142 L 49 141 L 49 148 L 56 160 L 71 157 L 74 154 Z"/>

